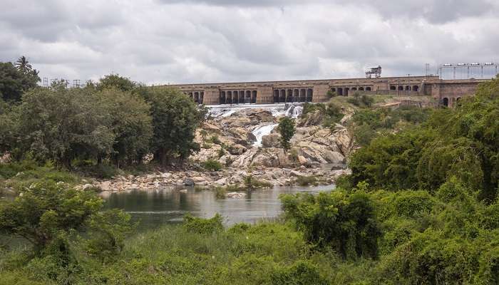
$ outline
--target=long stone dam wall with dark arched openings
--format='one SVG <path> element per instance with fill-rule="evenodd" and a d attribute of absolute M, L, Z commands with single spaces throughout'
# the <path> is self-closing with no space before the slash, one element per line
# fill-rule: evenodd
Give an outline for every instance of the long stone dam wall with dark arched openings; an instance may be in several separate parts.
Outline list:
<path fill-rule="evenodd" d="M 452 107 L 464 96 L 475 93 L 483 79 L 443 80 L 438 76 L 386 78 L 345 78 L 304 81 L 262 81 L 240 83 L 202 83 L 173 85 L 196 103 L 272 104 L 326 102 L 331 93 L 353 95 L 431 95 L 441 105 Z"/>

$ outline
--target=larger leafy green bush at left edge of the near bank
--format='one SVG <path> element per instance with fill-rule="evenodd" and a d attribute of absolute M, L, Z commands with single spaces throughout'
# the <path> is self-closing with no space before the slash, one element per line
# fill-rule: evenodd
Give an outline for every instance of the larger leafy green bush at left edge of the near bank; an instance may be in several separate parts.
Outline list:
<path fill-rule="evenodd" d="M 55 183 L 32 185 L 14 202 L 0 204 L 0 230 L 26 239 L 40 253 L 61 242 L 71 230 L 83 229 L 101 207 L 102 199 L 92 192 L 65 189 Z"/>

